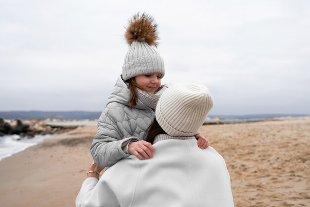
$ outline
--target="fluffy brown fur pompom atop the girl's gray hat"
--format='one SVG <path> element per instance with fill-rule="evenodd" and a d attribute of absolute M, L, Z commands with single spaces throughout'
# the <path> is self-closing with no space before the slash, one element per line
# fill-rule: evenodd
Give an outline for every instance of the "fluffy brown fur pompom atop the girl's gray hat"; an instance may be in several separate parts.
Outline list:
<path fill-rule="evenodd" d="M 157 47 L 157 24 L 150 15 L 146 13 L 140 15 L 137 13 L 129 19 L 125 39 L 129 46 L 133 41 L 140 41 Z"/>

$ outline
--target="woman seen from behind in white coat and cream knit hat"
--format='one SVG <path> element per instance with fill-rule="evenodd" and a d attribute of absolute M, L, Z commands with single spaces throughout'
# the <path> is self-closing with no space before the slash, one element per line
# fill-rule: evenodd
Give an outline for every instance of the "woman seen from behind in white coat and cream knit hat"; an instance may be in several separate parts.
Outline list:
<path fill-rule="evenodd" d="M 154 157 L 140 160 L 131 155 L 107 169 L 100 180 L 87 178 L 76 206 L 233 207 L 224 159 L 211 147 L 197 148 L 194 136 L 212 106 L 203 85 L 168 87 L 147 136 L 156 149 Z"/>

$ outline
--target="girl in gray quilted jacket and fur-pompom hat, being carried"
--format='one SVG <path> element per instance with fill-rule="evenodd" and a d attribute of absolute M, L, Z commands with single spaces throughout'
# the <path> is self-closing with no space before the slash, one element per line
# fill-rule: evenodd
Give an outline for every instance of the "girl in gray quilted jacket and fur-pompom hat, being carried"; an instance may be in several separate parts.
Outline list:
<path fill-rule="evenodd" d="M 165 69 L 156 50 L 156 29 L 157 24 L 148 14 L 138 13 L 130 19 L 125 32 L 129 50 L 122 74 L 108 97 L 91 145 L 93 159 L 100 166 L 112 166 L 129 155 L 139 159 L 153 157 L 154 147 L 143 138 L 155 118 L 157 101 L 166 89 L 160 85 Z M 197 138 L 199 147 L 207 148 L 206 138 Z"/>

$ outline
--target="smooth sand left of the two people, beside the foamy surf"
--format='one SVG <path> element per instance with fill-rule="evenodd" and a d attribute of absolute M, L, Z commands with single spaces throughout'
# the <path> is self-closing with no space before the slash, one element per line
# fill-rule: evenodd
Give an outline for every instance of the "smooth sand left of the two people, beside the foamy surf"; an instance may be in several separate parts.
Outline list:
<path fill-rule="evenodd" d="M 89 147 L 96 131 L 96 127 L 78 127 L 2 159 L 1 205 L 75 206 L 92 161 Z"/>

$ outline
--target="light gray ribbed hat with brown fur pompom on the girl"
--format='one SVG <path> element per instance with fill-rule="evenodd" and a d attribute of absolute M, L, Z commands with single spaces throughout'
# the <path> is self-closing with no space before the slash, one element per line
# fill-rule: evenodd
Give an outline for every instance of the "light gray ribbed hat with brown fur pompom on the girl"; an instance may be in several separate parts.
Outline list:
<path fill-rule="evenodd" d="M 122 71 L 124 81 L 147 73 L 161 73 L 161 78 L 164 76 L 163 59 L 156 50 L 156 29 L 154 19 L 146 13 L 137 13 L 129 20 L 125 32 L 129 50 Z"/>

